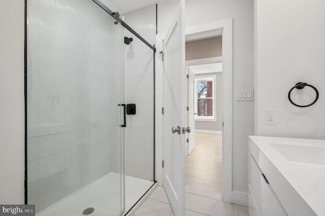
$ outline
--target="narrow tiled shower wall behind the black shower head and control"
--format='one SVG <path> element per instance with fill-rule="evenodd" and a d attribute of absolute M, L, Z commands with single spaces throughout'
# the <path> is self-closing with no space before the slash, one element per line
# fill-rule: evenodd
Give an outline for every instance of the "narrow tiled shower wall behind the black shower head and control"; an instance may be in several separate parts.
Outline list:
<path fill-rule="evenodd" d="M 155 44 L 156 5 L 123 16 L 129 26 Z M 124 102 L 137 106 L 136 115 L 126 116 L 125 174 L 153 180 L 153 51 L 126 29 L 124 36 L 133 38 L 130 45 L 124 45 Z"/>

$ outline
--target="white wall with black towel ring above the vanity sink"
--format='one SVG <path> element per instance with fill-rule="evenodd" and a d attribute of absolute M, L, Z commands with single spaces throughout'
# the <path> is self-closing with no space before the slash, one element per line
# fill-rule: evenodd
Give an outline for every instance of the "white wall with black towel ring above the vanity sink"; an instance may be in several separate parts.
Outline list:
<path fill-rule="evenodd" d="M 325 138 L 325 2 L 255 1 L 255 130 L 258 135 Z M 296 107 L 287 98 L 298 82 L 319 91 L 318 101 Z M 296 103 L 315 98 L 309 87 L 295 90 Z M 276 109 L 276 125 L 266 125 L 264 109 Z"/>

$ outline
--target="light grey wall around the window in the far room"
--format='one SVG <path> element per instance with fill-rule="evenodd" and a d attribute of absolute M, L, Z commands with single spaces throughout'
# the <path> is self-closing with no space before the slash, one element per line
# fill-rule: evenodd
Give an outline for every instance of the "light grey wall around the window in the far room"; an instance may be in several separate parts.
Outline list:
<path fill-rule="evenodd" d="M 212 74 L 202 74 L 200 76 L 206 76 L 206 75 L 212 75 Z M 216 100 L 215 104 L 217 106 L 217 121 L 195 121 L 195 129 L 200 129 L 200 130 L 222 130 L 222 73 L 213 73 L 213 75 L 217 75 L 217 80 L 216 80 Z M 196 77 L 200 77 L 196 76 Z"/>

